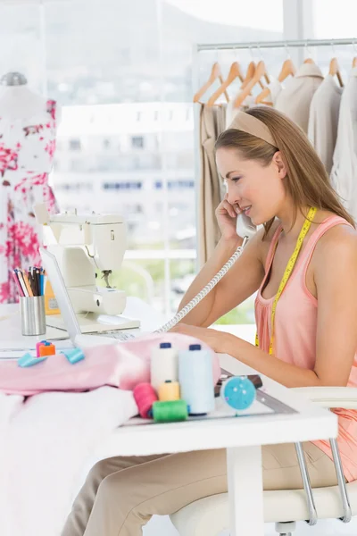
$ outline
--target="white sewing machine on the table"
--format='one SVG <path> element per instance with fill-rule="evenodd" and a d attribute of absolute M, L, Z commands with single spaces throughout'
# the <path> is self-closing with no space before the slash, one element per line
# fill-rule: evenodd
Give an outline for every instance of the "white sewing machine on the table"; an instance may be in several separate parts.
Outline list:
<path fill-rule="evenodd" d="M 110 284 L 126 249 L 123 219 L 116 214 L 77 211 L 50 215 L 42 204 L 35 206 L 35 214 L 43 225 L 44 244 L 60 266 L 82 333 L 137 328 L 137 320 L 118 317 L 126 306 L 126 295 Z M 105 288 L 96 286 L 99 273 Z M 47 315 L 46 323 L 64 329 L 60 315 Z"/>

